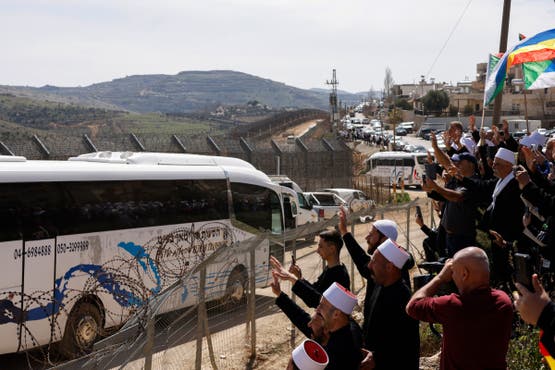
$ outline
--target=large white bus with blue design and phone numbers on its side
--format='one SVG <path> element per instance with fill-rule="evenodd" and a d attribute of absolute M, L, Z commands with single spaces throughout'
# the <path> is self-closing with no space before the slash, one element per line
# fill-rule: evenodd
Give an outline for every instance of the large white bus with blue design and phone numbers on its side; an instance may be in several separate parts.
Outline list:
<path fill-rule="evenodd" d="M 0 156 L 0 189 L 0 353 L 55 342 L 68 355 L 86 352 L 216 249 L 283 231 L 279 186 L 236 158 Z M 256 249 L 258 286 L 282 247 Z M 206 299 L 241 300 L 248 261 L 237 253 L 211 264 Z M 197 303 L 191 281 L 165 311 Z"/>

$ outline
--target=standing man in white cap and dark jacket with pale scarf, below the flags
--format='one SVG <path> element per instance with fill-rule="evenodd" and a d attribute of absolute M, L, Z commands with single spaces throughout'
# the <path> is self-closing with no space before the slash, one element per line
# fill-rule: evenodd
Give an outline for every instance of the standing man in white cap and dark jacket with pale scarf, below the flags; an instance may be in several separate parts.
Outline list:
<path fill-rule="evenodd" d="M 493 160 L 490 180 L 464 177 L 462 184 L 479 201 L 488 204 L 480 226 L 492 235 L 492 272 L 496 280 L 511 283 L 509 248 L 500 240 L 512 242 L 522 233 L 524 203 L 520 199 L 518 182 L 513 174 L 514 152 L 499 148 Z M 492 232 L 493 231 L 493 232 Z M 498 235 L 497 235 L 498 234 Z M 500 236 L 500 238 L 499 238 Z"/>

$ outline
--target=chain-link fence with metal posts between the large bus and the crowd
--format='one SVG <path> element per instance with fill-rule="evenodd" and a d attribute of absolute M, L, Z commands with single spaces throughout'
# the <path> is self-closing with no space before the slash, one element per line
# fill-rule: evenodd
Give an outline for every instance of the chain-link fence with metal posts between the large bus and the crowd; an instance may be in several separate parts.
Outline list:
<path fill-rule="evenodd" d="M 399 225 L 398 242 L 418 262 L 424 258 L 421 248 L 424 234 L 414 223 L 416 205 L 422 207 L 425 220 L 433 225 L 430 203 L 424 199 L 377 207 L 371 211 L 371 216 L 395 220 Z M 367 215 L 368 211 L 361 211 L 349 216 L 351 233 L 364 249 L 364 237 L 371 223 L 359 220 L 360 216 Z M 153 296 L 115 334 L 96 343 L 92 353 L 65 363 L 45 359 L 41 366 L 33 368 L 53 365 L 56 369 L 283 369 L 303 335 L 274 304 L 275 296 L 266 284 L 271 276 L 268 262 L 256 265 L 255 255 L 264 246 L 271 245 L 273 254 L 282 259 L 285 266 L 289 266 L 291 257 L 295 256 L 303 278 L 313 282 L 321 273 L 323 262 L 316 254 L 316 243 L 305 239 L 311 240 L 311 235 L 336 226 L 337 221 L 335 217 L 279 236 L 266 233 L 231 248 L 220 248 L 170 288 Z M 209 285 L 222 283 L 214 278 L 211 266 L 238 255 L 248 256 L 248 263 L 236 279 L 228 279 L 228 294 L 215 300 L 206 297 Z M 354 317 L 362 321 L 365 280 L 346 248 L 342 249 L 341 260 L 350 273 L 351 290 L 360 293 L 360 307 L 355 310 Z M 412 272 L 419 273 L 417 268 Z M 198 295 L 198 304 L 166 312 L 166 307 L 184 294 L 184 287 L 189 289 L 189 294 Z M 282 283 L 282 291 L 292 296 L 290 284 Z M 296 301 L 312 312 L 300 299 Z"/>

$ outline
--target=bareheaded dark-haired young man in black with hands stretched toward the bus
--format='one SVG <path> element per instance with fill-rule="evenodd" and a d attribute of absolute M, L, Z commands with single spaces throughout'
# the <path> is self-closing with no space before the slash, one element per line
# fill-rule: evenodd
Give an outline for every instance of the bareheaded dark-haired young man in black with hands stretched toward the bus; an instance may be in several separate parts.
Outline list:
<path fill-rule="evenodd" d="M 293 263 L 287 271 L 279 261 L 271 257 L 270 263 L 276 270 L 278 277 L 289 280 L 293 284 L 293 292 L 298 295 L 308 307 L 316 307 L 320 303 L 322 293 L 329 288 L 333 282 L 349 287 L 351 279 L 344 264 L 341 263 L 339 253 L 343 247 L 343 239 L 336 230 L 328 230 L 320 233 L 318 249 L 316 252 L 326 261 L 324 271 L 318 276 L 314 283 L 309 283 L 302 278 L 302 271 L 297 264 Z"/>

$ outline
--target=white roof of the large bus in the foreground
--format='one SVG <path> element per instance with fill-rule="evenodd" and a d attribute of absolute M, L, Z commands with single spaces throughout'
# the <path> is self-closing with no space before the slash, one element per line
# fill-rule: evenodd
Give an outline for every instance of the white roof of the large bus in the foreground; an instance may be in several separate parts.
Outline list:
<path fill-rule="evenodd" d="M 24 157 L 0 156 L 0 183 L 225 178 L 275 189 L 266 174 L 248 162 L 230 157 L 99 152 L 68 161 L 28 161 Z"/>

